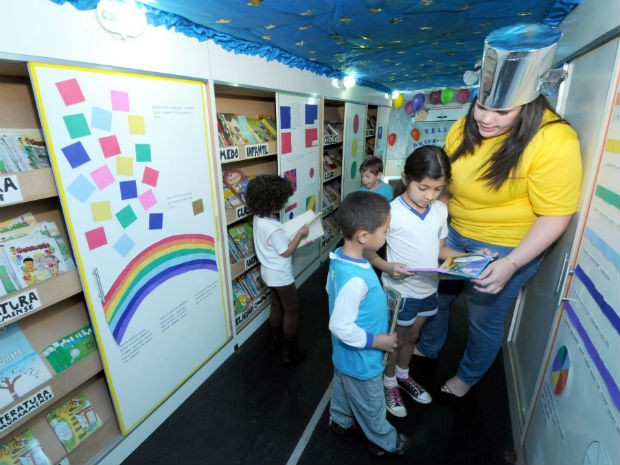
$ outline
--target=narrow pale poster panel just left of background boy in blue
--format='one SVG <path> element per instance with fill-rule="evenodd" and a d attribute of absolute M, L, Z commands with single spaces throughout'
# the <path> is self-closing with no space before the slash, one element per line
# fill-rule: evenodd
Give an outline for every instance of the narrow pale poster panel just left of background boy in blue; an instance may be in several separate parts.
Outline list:
<path fill-rule="evenodd" d="M 364 161 L 366 105 L 344 104 L 344 153 L 342 155 L 342 198 L 362 187 L 360 165 Z"/>

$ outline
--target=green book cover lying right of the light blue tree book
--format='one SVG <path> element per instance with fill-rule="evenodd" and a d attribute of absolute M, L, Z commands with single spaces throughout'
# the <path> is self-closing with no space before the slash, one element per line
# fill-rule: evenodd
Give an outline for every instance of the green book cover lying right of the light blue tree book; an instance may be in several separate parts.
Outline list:
<path fill-rule="evenodd" d="M 97 342 L 91 325 L 67 334 L 41 351 L 56 373 L 97 351 Z"/>

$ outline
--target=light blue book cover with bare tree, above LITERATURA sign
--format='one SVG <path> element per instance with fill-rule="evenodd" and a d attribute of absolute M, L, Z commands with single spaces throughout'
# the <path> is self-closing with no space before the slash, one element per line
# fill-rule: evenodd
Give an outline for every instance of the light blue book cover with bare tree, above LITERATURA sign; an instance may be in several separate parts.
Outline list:
<path fill-rule="evenodd" d="M 18 323 L 0 328 L 0 408 L 19 400 L 51 377 Z"/>

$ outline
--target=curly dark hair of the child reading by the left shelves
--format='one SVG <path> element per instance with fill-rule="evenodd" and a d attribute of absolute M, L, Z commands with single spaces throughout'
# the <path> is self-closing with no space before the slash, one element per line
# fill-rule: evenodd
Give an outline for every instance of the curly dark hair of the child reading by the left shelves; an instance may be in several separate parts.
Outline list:
<path fill-rule="evenodd" d="M 261 174 L 248 183 L 245 199 L 248 208 L 256 215 L 271 216 L 284 208 L 291 195 L 291 181 L 277 174 Z"/>

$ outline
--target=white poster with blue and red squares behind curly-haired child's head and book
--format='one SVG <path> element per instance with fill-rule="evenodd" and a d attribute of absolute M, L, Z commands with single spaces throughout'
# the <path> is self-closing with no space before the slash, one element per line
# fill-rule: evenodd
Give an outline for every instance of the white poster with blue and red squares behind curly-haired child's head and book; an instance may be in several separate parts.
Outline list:
<path fill-rule="evenodd" d="M 306 210 L 317 212 L 320 176 L 319 106 L 315 98 L 279 93 L 280 175 L 293 184 L 284 207 L 291 220 Z"/>

